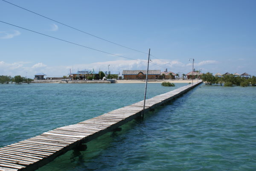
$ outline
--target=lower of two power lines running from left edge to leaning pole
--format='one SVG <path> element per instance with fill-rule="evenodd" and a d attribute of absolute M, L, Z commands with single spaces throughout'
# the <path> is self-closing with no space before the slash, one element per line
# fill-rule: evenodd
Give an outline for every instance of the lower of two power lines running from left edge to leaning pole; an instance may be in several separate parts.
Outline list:
<path fill-rule="evenodd" d="M 0 21 L 0 22 L 6 23 L 4 21 Z M 109 54 L 109 55 L 114 55 L 114 56 L 118 56 L 118 57 L 122 57 L 122 58 L 127 58 L 127 59 L 131 59 L 131 60 L 135 60 L 135 61 L 142 61 L 142 60 L 139 60 L 139 59 L 128 58 L 128 57 L 125 57 L 125 56 L 121 56 L 121 55 L 116 55 L 116 54 L 113 54 L 113 53 L 105 52 L 105 51 L 102 51 L 102 50 L 99 50 L 99 49 L 94 49 L 94 48 L 87 47 L 87 46 L 84 46 L 84 45 L 81 45 L 81 44 L 77 44 L 77 43 L 73 43 L 73 42 L 70 42 L 70 41 L 65 41 L 64 39 L 55 38 L 53 36 L 45 35 L 45 34 L 40 33 L 40 32 L 35 32 L 33 30 L 26 29 L 26 28 L 23 28 L 23 27 L 20 27 L 20 26 L 16 26 L 16 25 L 11 24 L 11 23 L 6 23 L 6 24 L 11 25 L 11 26 L 15 26 L 15 27 L 18 27 L 20 29 L 24 29 L 24 30 L 27 30 L 27 31 L 30 31 L 30 32 L 34 32 L 34 33 L 37 33 L 37 34 L 40 34 L 40 35 L 44 35 L 44 36 L 47 36 L 47 37 L 50 37 L 50 38 L 54 38 L 54 39 L 57 39 L 59 41 L 64 41 L 64 42 L 71 43 L 71 44 L 74 44 L 74 45 L 77 45 L 77 46 L 82 46 L 82 47 L 85 47 L 85 48 L 88 48 L 88 49 L 92 49 L 92 50 L 95 50 L 95 51 L 98 51 L 98 52 L 103 52 L 103 53 L 106 53 L 106 54 Z M 146 61 L 143 61 L 143 62 L 146 62 Z"/>

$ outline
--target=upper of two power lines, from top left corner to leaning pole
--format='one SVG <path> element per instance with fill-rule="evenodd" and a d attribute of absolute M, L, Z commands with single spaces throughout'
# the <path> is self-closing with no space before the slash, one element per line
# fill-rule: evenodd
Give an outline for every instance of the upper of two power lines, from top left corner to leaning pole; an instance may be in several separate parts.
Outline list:
<path fill-rule="evenodd" d="M 53 19 L 51 19 L 51 18 L 49 18 L 49 17 L 46 17 L 46 16 L 41 15 L 41 14 L 38 14 L 38 13 L 36 13 L 36 12 L 30 11 L 29 9 L 25 9 L 25 8 L 23 8 L 23 7 L 21 7 L 21 6 L 15 5 L 15 4 L 10 3 L 10 2 L 8 2 L 8 1 L 6 1 L 6 0 L 3 0 L 3 1 L 6 2 L 6 3 L 11 4 L 11 5 L 13 5 L 13 6 L 17 6 L 18 8 L 24 9 L 24 10 L 26 10 L 26 11 L 28 11 L 28 12 L 32 12 L 32 13 L 34 13 L 34 14 L 37 14 L 37 15 L 41 16 L 41 17 L 47 18 L 48 20 L 52 20 L 52 21 L 54 21 L 54 22 L 56 22 L 56 23 L 60 23 L 60 24 L 62 24 L 62 25 L 64 25 L 64 26 L 67 26 L 67 27 L 70 27 L 70 28 L 72 28 L 72 29 L 75 29 L 75 30 L 77 30 L 77 31 L 79 31 L 79 32 L 83 32 L 83 33 L 85 33 L 85 34 L 87 34 L 87 35 L 93 36 L 93 37 L 95 37 L 95 38 L 99 38 L 99 39 L 101 39 L 101 40 L 103 40 L 103 41 L 107 41 L 107 42 L 109 42 L 109 43 L 113 43 L 113 44 L 115 44 L 115 45 L 122 46 L 122 47 L 124 47 L 124 48 L 130 49 L 130 50 L 134 50 L 134 51 L 137 51 L 137 52 L 140 52 L 140 53 L 148 54 L 148 53 L 142 52 L 142 51 L 140 51 L 140 50 L 136 50 L 136 49 L 133 49 L 133 48 L 130 48 L 130 47 L 127 47 L 127 46 L 123 46 L 123 45 L 118 44 L 118 43 L 114 43 L 113 41 L 108 41 L 107 39 L 100 38 L 99 36 L 90 34 L 90 33 L 88 33 L 88 32 L 84 32 L 84 31 L 82 31 L 82 30 L 80 30 L 80 29 L 76 29 L 76 28 L 74 28 L 74 27 L 72 27 L 72 26 L 69 26 L 69 25 L 67 25 L 67 24 L 61 23 L 61 22 L 59 22 L 59 21 L 57 21 L 57 20 L 53 20 Z"/>

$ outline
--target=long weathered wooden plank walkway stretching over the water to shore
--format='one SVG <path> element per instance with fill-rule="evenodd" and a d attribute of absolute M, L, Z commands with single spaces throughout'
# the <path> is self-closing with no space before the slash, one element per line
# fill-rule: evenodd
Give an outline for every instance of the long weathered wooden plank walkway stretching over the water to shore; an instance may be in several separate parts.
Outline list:
<path fill-rule="evenodd" d="M 147 99 L 144 112 L 175 99 L 198 84 L 201 82 Z M 0 171 L 36 170 L 80 144 L 89 142 L 135 119 L 141 112 L 143 112 L 143 101 L 2 147 L 0 148 Z"/>

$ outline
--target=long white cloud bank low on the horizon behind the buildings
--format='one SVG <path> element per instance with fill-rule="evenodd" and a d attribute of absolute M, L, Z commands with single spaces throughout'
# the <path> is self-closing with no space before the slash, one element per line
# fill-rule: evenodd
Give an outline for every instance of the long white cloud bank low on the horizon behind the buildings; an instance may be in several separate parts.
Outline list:
<path fill-rule="evenodd" d="M 217 61 L 201 61 L 196 66 L 215 64 Z M 122 70 L 146 70 L 147 69 L 147 60 L 135 61 L 135 60 L 116 60 L 116 61 L 104 61 L 104 62 L 95 62 L 91 64 L 76 64 L 76 65 L 57 65 L 57 66 L 47 66 L 41 62 L 31 63 L 31 62 L 14 62 L 6 63 L 0 61 L 0 75 L 21 75 L 27 76 L 29 78 L 34 78 L 34 74 L 37 72 L 43 72 L 47 74 L 47 77 L 61 77 L 67 75 L 71 72 L 77 72 L 77 70 L 93 70 L 98 72 L 99 69 L 103 72 L 109 70 L 111 73 L 121 73 Z M 149 64 L 150 70 L 161 70 L 165 69 L 172 72 L 187 73 L 192 70 L 191 66 L 184 64 L 178 60 L 164 60 L 164 59 L 152 59 L 152 62 Z M 204 67 L 207 68 L 207 67 Z M 208 69 L 205 69 L 208 71 Z"/>

